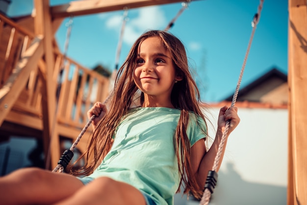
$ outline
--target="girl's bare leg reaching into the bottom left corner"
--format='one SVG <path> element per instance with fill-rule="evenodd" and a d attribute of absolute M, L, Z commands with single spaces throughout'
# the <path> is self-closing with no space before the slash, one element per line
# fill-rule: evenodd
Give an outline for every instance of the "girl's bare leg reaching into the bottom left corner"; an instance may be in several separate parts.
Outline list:
<path fill-rule="evenodd" d="M 0 178 L 3 205 L 47 205 L 72 196 L 82 182 L 74 176 L 38 168 L 17 170 Z"/>

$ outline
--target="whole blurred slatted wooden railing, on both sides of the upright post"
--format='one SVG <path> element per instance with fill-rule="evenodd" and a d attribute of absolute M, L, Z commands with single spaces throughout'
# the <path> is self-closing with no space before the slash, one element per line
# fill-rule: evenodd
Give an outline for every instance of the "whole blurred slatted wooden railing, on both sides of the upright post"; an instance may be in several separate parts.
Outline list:
<path fill-rule="evenodd" d="M 18 25 L 12 20 L 0 14 L 0 89 L 6 80 L 14 72 L 15 66 L 23 56 L 24 51 L 34 39 L 34 34 Z M 69 138 L 76 137 L 76 131 L 80 130 L 87 122 L 86 111 L 96 101 L 104 101 L 109 91 L 109 79 L 103 77 L 73 59 L 64 57 L 57 49 L 54 49 L 54 86 L 59 91 L 56 103 L 57 124 L 65 127 L 66 131 L 59 129 L 59 134 Z M 39 68 L 43 67 L 41 59 L 37 68 L 33 69 L 18 100 L 12 107 L 8 121 L 35 129 L 43 129 L 39 121 L 29 122 L 18 115 L 31 116 L 41 121 L 42 119 L 42 78 Z M 1 114 L 1 113 L 0 113 Z M 9 114 L 10 115 L 10 114 Z M 1 125 L 0 125 L 1 126 Z M 70 133 L 73 133 L 70 136 Z"/>

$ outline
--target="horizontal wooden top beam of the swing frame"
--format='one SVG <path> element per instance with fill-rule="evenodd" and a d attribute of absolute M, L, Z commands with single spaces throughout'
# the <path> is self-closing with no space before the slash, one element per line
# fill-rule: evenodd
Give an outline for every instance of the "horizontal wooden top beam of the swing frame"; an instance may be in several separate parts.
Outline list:
<path fill-rule="evenodd" d="M 78 0 L 51 7 L 52 18 L 89 15 L 101 12 L 138 8 L 159 4 L 178 3 L 184 0 Z"/>

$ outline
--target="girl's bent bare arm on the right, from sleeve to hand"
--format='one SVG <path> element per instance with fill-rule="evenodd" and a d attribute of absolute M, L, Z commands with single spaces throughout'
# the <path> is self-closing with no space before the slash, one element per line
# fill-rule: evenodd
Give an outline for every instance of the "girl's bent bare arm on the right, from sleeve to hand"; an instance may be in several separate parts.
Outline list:
<path fill-rule="evenodd" d="M 192 169 L 194 170 L 195 177 L 201 187 L 205 186 L 205 180 L 208 171 L 212 170 L 214 159 L 226 126 L 226 121 L 228 120 L 230 120 L 230 128 L 228 130 L 225 145 L 221 155 L 221 159 L 223 159 L 228 136 L 240 122 L 240 118 L 237 115 L 237 107 L 228 108 L 227 106 L 224 106 L 220 109 L 216 136 L 208 152 L 206 152 L 205 143 L 203 140 L 197 141 L 191 148 Z M 217 170 L 215 170 L 216 172 L 219 170 L 221 163 L 222 160 L 220 160 Z"/>

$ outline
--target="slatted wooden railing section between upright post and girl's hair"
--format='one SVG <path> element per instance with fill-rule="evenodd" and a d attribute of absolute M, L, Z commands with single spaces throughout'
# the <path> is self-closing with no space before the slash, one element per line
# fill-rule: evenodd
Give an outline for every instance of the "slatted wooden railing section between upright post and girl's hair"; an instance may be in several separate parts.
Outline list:
<path fill-rule="evenodd" d="M 54 77 L 60 81 L 58 121 L 82 128 L 87 122 L 87 110 L 95 102 L 103 102 L 108 96 L 109 80 L 70 58 L 64 59 L 61 53 L 57 54 L 54 71 Z"/>

